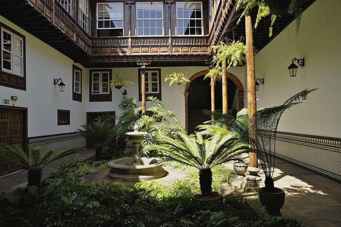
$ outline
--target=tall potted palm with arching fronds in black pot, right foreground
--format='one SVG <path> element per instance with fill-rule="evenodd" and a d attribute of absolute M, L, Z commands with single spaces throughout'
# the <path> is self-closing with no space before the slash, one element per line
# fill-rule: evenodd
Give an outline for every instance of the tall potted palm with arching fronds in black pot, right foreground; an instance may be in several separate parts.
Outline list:
<path fill-rule="evenodd" d="M 251 117 L 249 117 L 247 109 L 241 110 L 237 118 L 218 112 L 205 111 L 216 119 L 205 122 L 205 124 L 214 123 L 214 126 L 206 127 L 228 127 L 240 141 L 249 144 L 250 149 L 256 153 L 265 174 L 265 187 L 260 188 L 258 193 L 262 205 L 271 214 L 280 214 L 285 198 L 284 190 L 275 187 L 272 179 L 275 168 L 276 132 L 279 119 L 285 110 L 301 103 L 298 100 L 314 90 L 316 89 L 305 89 L 292 96 L 282 105 L 259 109 Z"/>

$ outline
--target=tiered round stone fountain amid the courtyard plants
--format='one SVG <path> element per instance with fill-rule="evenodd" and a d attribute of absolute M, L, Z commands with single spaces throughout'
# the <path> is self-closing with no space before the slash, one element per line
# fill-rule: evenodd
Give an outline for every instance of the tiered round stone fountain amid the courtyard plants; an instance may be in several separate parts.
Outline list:
<path fill-rule="evenodd" d="M 108 167 L 110 167 L 108 177 L 113 180 L 120 179 L 122 181 L 148 181 L 166 176 L 167 172 L 162 167 L 165 162 L 162 159 L 140 157 L 138 147 L 144 140 L 147 132 L 139 132 L 138 126 L 135 124 L 134 131 L 125 134 L 134 146 L 134 156 L 133 158 L 121 158 L 110 161 L 108 163 Z"/>

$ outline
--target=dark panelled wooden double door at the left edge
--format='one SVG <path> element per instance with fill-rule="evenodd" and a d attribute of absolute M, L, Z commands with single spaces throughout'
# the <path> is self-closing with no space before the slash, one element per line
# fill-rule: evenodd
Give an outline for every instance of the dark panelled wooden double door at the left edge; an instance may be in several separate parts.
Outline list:
<path fill-rule="evenodd" d="M 0 143 L 18 144 L 27 150 L 27 108 L 0 105 Z M 0 156 L 0 176 L 23 169 L 23 166 Z"/>

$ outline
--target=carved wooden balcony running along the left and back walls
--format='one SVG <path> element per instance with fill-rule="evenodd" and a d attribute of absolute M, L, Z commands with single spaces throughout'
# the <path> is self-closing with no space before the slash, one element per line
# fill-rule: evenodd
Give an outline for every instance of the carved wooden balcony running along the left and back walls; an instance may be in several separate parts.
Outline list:
<path fill-rule="evenodd" d="M 0 14 L 86 67 L 113 59 L 205 65 L 209 54 L 209 36 L 90 37 L 58 0 L 3 0 Z"/>

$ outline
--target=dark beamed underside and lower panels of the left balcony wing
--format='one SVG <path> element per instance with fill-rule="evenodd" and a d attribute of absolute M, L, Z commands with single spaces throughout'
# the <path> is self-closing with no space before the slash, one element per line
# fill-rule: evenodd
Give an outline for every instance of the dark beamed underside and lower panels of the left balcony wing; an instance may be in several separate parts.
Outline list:
<path fill-rule="evenodd" d="M 75 32 L 57 15 L 54 17 L 51 0 L 1 0 L 0 14 L 71 59 L 90 57 L 89 47 L 82 47 Z"/>

